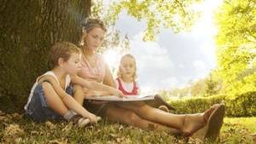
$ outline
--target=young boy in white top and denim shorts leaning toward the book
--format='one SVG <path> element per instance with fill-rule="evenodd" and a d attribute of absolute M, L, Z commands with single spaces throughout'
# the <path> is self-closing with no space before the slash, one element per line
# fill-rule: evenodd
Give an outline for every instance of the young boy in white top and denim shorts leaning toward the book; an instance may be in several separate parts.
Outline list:
<path fill-rule="evenodd" d="M 100 118 L 86 111 L 71 96 L 73 91 L 72 87 L 69 87 L 71 83 L 81 84 L 90 89 L 106 90 L 120 97 L 124 96 L 117 89 L 79 78 L 76 74 L 81 67 L 80 59 L 80 49 L 73 43 L 56 43 L 52 47 L 50 62 L 53 69 L 38 77 L 33 84 L 24 107 L 26 117 L 40 122 L 63 117 L 67 121 L 72 121 L 73 124 L 78 124 L 79 127 L 89 123 L 96 124 Z"/>

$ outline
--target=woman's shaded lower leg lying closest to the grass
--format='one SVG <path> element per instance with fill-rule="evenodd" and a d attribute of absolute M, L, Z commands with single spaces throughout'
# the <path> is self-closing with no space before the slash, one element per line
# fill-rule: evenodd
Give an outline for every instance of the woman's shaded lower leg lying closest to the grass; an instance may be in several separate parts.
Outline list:
<path fill-rule="evenodd" d="M 105 117 L 108 118 L 111 122 L 119 122 L 122 124 L 130 124 L 142 129 L 154 129 L 154 130 L 165 130 L 171 132 L 172 134 L 180 134 L 180 130 L 167 127 L 163 124 L 157 124 L 147 119 L 137 116 L 137 113 L 121 108 L 121 107 L 109 107 L 105 113 Z"/>

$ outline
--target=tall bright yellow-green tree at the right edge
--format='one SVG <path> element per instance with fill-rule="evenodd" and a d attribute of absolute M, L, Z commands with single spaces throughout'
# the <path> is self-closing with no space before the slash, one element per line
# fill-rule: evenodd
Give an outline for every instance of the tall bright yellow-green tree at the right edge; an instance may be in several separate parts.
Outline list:
<path fill-rule="evenodd" d="M 218 71 L 225 92 L 241 94 L 256 90 L 256 72 L 241 73 L 255 66 L 256 1 L 224 0 L 216 11 Z"/>

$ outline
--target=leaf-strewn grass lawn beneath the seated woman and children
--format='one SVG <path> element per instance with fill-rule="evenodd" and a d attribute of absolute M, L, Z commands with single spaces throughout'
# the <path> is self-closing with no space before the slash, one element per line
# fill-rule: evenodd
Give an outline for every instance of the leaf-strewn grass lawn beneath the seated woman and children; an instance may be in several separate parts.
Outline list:
<path fill-rule="evenodd" d="M 224 118 L 218 143 L 253 143 L 249 134 L 256 132 L 255 120 Z M 64 120 L 37 123 L 19 114 L 0 112 L 0 121 L 0 143 L 186 143 L 183 137 L 164 131 L 141 130 L 124 124 L 109 124 L 104 120 L 96 126 L 78 128 Z"/>

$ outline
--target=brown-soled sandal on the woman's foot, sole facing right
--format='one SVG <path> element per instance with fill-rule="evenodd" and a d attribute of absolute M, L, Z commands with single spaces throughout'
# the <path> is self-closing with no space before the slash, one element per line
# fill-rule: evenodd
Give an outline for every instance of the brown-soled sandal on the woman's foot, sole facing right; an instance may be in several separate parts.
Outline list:
<path fill-rule="evenodd" d="M 225 107 L 223 104 L 218 104 L 216 107 L 211 107 L 204 113 L 206 126 L 197 130 L 191 138 L 204 141 L 216 141 L 219 137 L 219 132 L 223 124 Z"/>

